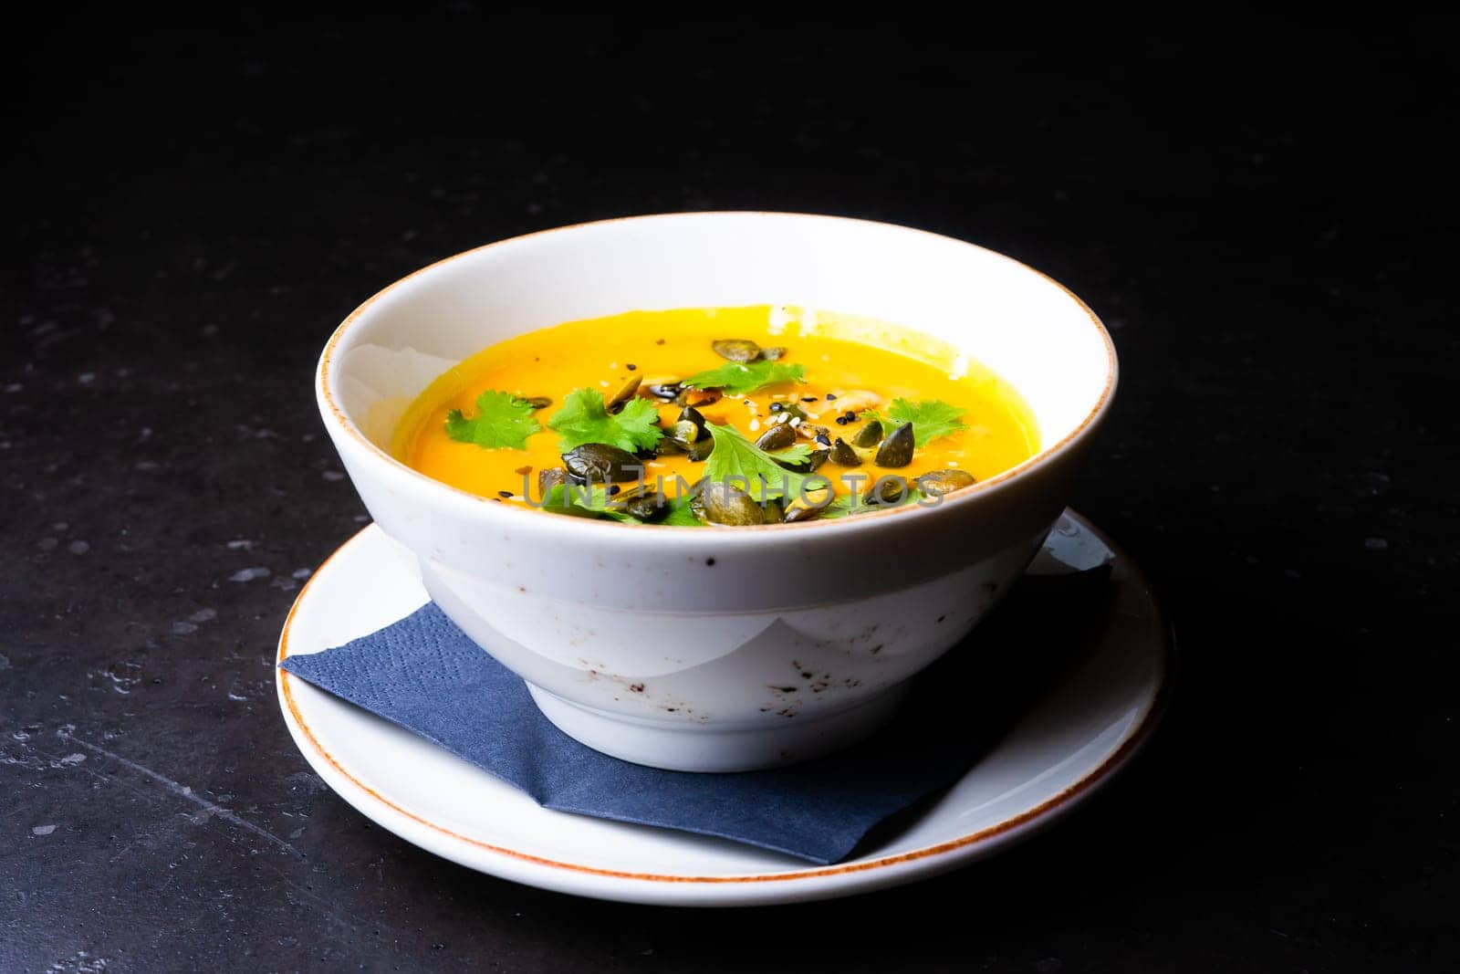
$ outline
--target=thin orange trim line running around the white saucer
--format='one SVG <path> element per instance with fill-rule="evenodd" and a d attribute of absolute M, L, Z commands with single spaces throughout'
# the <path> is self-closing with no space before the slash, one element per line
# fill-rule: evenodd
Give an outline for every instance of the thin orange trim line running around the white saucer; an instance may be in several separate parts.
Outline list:
<path fill-rule="evenodd" d="M 1080 518 L 1080 523 L 1085 527 L 1089 527 L 1092 532 L 1095 532 L 1095 534 L 1099 536 L 1101 540 L 1107 540 L 1099 533 L 1099 530 L 1095 529 L 1092 524 L 1089 524 L 1083 518 Z M 366 530 L 369 530 L 369 527 L 361 529 L 347 542 L 345 542 L 343 545 L 340 545 L 334 551 L 334 553 L 330 555 L 328 558 L 326 558 L 324 562 L 315 570 L 315 572 L 310 578 L 310 581 L 307 581 L 304 584 L 304 588 L 299 590 L 299 596 L 293 600 L 293 606 L 289 607 L 289 615 L 285 618 L 283 632 L 279 635 L 279 662 L 283 662 L 289 656 L 289 628 L 293 625 L 293 616 L 299 610 L 299 606 L 304 603 L 304 597 L 305 597 L 305 594 L 308 594 L 310 586 L 314 584 L 315 578 L 318 578 L 324 572 L 324 570 L 328 567 L 328 564 L 331 561 L 334 561 L 334 558 L 337 558 L 352 543 L 355 543 L 356 540 L 359 540 L 359 537 Z M 1108 542 L 1107 542 L 1107 545 L 1108 545 Z M 1111 546 L 1111 549 L 1114 551 L 1114 546 Z M 1137 574 L 1137 578 L 1140 578 L 1139 574 Z M 1148 587 L 1148 591 L 1149 591 L 1149 587 Z M 397 812 L 400 815 L 404 815 L 406 818 L 412 819 L 413 822 L 419 822 L 420 825 L 425 825 L 426 828 L 435 829 L 435 831 L 441 832 L 442 835 L 447 835 L 447 837 L 454 838 L 454 840 L 461 841 L 461 843 L 467 843 L 469 845 L 474 845 L 477 848 L 485 848 L 485 850 L 488 850 L 491 853 L 498 853 L 501 856 L 507 856 L 510 859 L 518 859 L 518 860 L 523 860 L 523 862 L 536 863 L 539 866 L 552 866 L 555 869 L 566 869 L 566 870 L 571 870 L 571 872 L 588 873 L 588 875 L 594 875 L 594 876 L 607 876 L 610 879 L 639 879 L 639 881 L 647 881 L 647 882 L 702 882 L 702 883 L 784 882 L 784 881 L 790 881 L 790 879 L 815 879 L 815 878 L 819 878 L 819 876 L 837 876 L 837 875 L 841 875 L 841 873 L 869 872 L 872 869 L 882 869 L 883 866 L 894 866 L 894 864 L 898 864 L 898 863 L 914 862 L 914 860 L 918 860 L 918 859 L 929 859 L 929 857 L 933 857 L 933 856 L 940 856 L 943 853 L 950 853 L 950 851 L 958 850 L 958 848 L 965 848 L 968 845 L 974 845 L 974 844 L 978 844 L 978 843 L 986 843 L 986 841 L 988 841 L 991 838 L 1003 835 L 1004 832 L 1009 832 L 1009 831 L 1012 831 L 1015 828 L 1019 828 L 1021 825 L 1025 825 L 1025 824 L 1034 822 L 1037 819 L 1041 819 L 1045 815 L 1048 815 L 1048 813 L 1054 812 L 1056 809 L 1058 809 L 1060 806 L 1063 806 L 1063 805 L 1069 803 L 1070 800 L 1076 799 L 1082 793 L 1088 791 L 1091 787 L 1094 787 L 1096 783 L 1099 783 L 1102 778 L 1105 778 L 1110 772 L 1113 772 L 1115 768 L 1118 768 L 1121 764 L 1124 764 L 1126 758 L 1129 758 L 1136 751 L 1136 748 L 1139 748 L 1146 740 L 1146 737 L 1150 735 L 1150 730 L 1156 724 L 1156 718 L 1161 716 L 1161 711 L 1165 707 L 1167 695 L 1168 695 L 1168 689 L 1169 689 L 1169 683 L 1171 683 L 1171 672 L 1169 672 L 1169 662 L 1171 662 L 1171 629 L 1169 629 L 1168 625 L 1165 625 L 1164 616 L 1161 616 L 1159 607 L 1156 607 L 1156 616 L 1162 622 L 1162 631 L 1165 632 L 1165 645 L 1162 647 L 1162 659 L 1161 659 L 1161 669 L 1162 669 L 1162 672 L 1161 672 L 1161 683 L 1156 688 L 1156 697 L 1155 697 L 1155 699 L 1150 702 L 1150 707 L 1146 710 L 1145 716 L 1142 717 L 1140 724 L 1120 743 L 1120 746 L 1115 749 L 1115 752 L 1111 753 L 1108 758 L 1105 758 L 1105 761 L 1102 761 L 1098 768 L 1095 768 L 1094 771 L 1091 771 L 1088 775 L 1085 775 L 1083 778 L 1080 778 L 1079 781 L 1076 781 L 1070 787 L 1064 789 L 1063 791 L 1060 791 L 1054 797 L 1051 797 L 1051 799 L 1048 799 L 1048 800 L 1037 805 L 1035 808 L 1028 809 L 1025 812 L 1021 812 L 1019 815 L 1015 815 L 1010 819 L 999 822 L 997 825 L 990 825 L 988 828 L 980 829 L 977 832 L 969 832 L 968 835 L 961 835 L 959 838 L 949 840 L 946 843 L 939 843 L 937 845 L 929 845 L 926 848 L 917 848 L 917 850 L 912 850 L 910 853 L 899 853 L 896 856 L 885 856 L 882 859 L 873 859 L 873 860 L 867 860 L 867 862 L 847 863 L 847 864 L 842 864 L 842 866 L 822 866 L 822 867 L 818 867 L 818 869 L 799 869 L 799 870 L 781 872 L 781 873 L 759 873 L 759 875 L 753 875 L 753 876 L 675 876 L 675 875 L 664 875 L 664 873 L 635 873 L 635 872 L 625 872 L 625 870 L 619 870 L 619 869 L 599 869 L 596 866 L 583 866 L 580 863 L 565 863 L 565 862 L 559 862 L 556 859 L 545 859 L 542 856 L 533 856 L 531 853 L 523 853 L 523 851 L 518 851 L 515 848 L 507 848 L 504 845 L 493 845 L 491 843 L 483 843 L 483 841 L 472 838 L 469 835 L 461 835 L 460 832 L 453 832 L 450 828 L 447 828 L 444 825 L 438 825 L 438 824 L 435 824 L 435 822 L 432 822 L 429 819 L 425 819 L 425 818 L 416 815 L 415 812 L 412 812 L 409 809 L 404 809 L 404 808 L 396 805 L 394 802 L 391 802 L 390 799 L 387 799 L 385 796 L 383 796 L 380 791 L 377 791 L 375 789 L 369 787 L 368 784 L 365 784 L 364 781 L 361 781 L 359 778 L 356 778 L 353 774 L 350 774 L 349 771 L 346 771 L 340 765 L 340 762 L 334 759 L 334 755 L 331 755 L 328 751 L 324 749 L 324 745 L 321 745 L 320 740 L 318 740 L 318 737 L 314 736 L 314 732 L 310 730 L 310 724 L 305 723 L 304 714 L 299 713 L 299 707 L 298 707 L 298 704 L 293 699 L 293 691 L 289 686 L 289 673 L 286 670 L 277 670 L 277 673 L 279 673 L 279 686 L 280 686 L 280 691 L 283 692 L 285 704 L 289 707 L 289 714 L 293 717 L 293 721 L 299 726 L 299 730 L 304 732 L 304 736 L 314 746 L 315 752 L 318 752 L 318 755 L 321 758 L 324 758 L 324 761 L 331 768 L 334 768 L 336 771 L 339 771 L 340 775 L 343 775 L 350 784 L 353 784 L 355 787 L 358 787 L 361 791 L 364 791 L 369 797 L 375 799 L 377 802 L 380 802 L 385 808 L 388 808 L 393 812 Z"/>

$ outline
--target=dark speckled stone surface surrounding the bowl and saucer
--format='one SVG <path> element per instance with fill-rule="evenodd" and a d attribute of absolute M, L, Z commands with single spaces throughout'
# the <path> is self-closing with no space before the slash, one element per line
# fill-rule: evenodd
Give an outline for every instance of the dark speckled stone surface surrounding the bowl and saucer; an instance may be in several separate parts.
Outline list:
<path fill-rule="evenodd" d="M 12 26 L 0 970 L 1456 968 L 1445 29 Z M 311 396 L 330 330 L 474 244 L 689 209 L 952 234 L 1110 324 L 1075 505 L 1156 580 L 1181 680 L 1018 850 L 802 907 L 594 902 L 397 840 L 291 743 L 279 628 L 365 517 Z"/>

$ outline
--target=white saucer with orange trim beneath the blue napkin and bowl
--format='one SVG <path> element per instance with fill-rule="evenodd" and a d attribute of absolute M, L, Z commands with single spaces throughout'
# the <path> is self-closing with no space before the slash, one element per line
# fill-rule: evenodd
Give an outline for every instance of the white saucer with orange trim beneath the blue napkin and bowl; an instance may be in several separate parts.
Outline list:
<path fill-rule="evenodd" d="M 815 530 L 815 529 L 812 529 Z M 285 723 L 346 802 L 438 856 L 531 886 L 602 900 L 750 905 L 845 897 L 988 856 L 1069 812 L 1149 735 L 1171 634 L 1145 578 L 1077 515 L 1056 529 L 1098 564 L 1110 612 L 1080 656 L 948 793 L 880 845 L 834 866 L 724 840 L 552 812 L 410 732 L 276 670 Z M 279 659 L 368 635 L 426 602 L 413 561 L 366 527 L 299 593 Z"/>

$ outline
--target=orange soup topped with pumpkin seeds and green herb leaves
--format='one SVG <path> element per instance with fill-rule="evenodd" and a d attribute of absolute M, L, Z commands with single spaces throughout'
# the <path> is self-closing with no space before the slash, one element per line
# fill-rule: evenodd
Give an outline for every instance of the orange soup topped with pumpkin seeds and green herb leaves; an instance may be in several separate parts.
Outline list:
<path fill-rule="evenodd" d="M 694 526 L 930 505 L 1038 445 L 1018 393 L 945 342 L 756 305 L 634 311 L 493 345 L 412 403 L 393 451 L 504 504 Z M 696 495 L 701 482 L 726 483 Z"/>

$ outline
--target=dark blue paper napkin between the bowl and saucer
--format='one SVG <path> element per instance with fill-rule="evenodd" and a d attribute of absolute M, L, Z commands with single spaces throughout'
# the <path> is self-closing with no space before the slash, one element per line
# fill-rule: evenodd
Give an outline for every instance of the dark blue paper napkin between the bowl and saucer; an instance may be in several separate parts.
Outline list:
<path fill-rule="evenodd" d="M 948 653 L 875 739 L 772 771 L 660 771 L 599 753 L 553 727 L 523 682 L 434 605 L 280 666 L 546 808 L 717 835 L 826 864 L 875 841 L 875 828 L 895 831 L 898 812 L 964 775 L 1086 643 L 1079 629 L 1091 613 L 1072 603 L 1098 609 L 1107 575 L 1026 578 L 978 626 L 977 645 Z"/>

